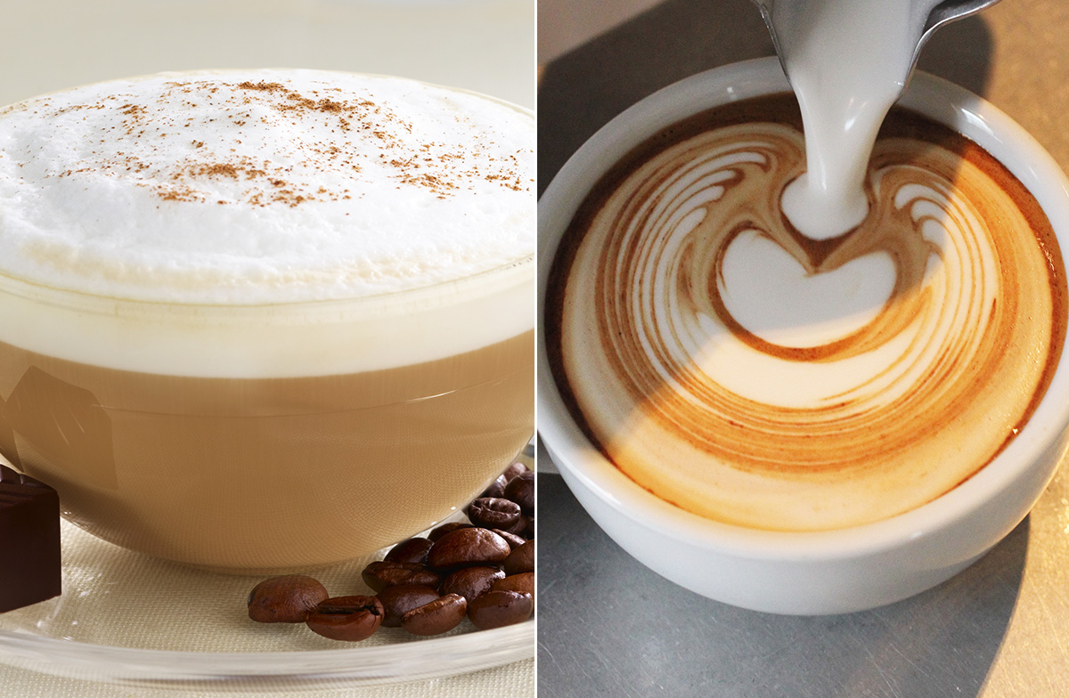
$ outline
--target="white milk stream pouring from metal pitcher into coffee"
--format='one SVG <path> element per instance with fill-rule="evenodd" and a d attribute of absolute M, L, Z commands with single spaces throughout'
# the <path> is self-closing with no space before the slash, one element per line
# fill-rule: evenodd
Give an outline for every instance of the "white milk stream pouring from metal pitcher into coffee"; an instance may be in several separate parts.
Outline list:
<path fill-rule="evenodd" d="M 862 185 L 877 131 L 905 87 L 924 18 L 939 1 L 807 0 L 770 11 L 806 142 L 807 172 L 781 204 L 804 235 L 836 237 L 865 219 Z"/>

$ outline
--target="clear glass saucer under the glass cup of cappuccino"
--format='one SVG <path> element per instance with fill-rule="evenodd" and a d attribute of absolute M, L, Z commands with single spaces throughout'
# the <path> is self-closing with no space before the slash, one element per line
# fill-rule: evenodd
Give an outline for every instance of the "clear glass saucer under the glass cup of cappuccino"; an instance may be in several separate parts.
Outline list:
<path fill-rule="evenodd" d="M 460 517 L 460 515 L 458 515 Z M 263 577 L 134 553 L 61 522 L 63 594 L 0 614 L 0 663 L 104 683 L 211 691 L 361 686 L 454 676 L 534 655 L 534 621 L 490 631 L 465 620 L 431 638 L 384 627 L 358 643 L 304 624 L 255 623 Z M 334 596 L 369 594 L 375 555 L 309 572 Z"/>

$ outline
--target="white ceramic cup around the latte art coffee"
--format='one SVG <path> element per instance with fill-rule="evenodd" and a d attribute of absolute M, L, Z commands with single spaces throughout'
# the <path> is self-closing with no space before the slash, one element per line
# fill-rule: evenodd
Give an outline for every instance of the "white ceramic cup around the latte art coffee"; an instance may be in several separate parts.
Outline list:
<path fill-rule="evenodd" d="M 646 138 L 698 111 L 789 91 L 775 58 L 715 68 L 650 95 L 599 130 L 539 202 L 539 432 L 591 517 L 654 572 L 699 594 L 778 614 L 863 610 L 929 589 L 982 556 L 1032 509 L 1069 444 L 1069 358 L 1021 433 L 938 499 L 864 526 L 780 532 L 714 522 L 657 498 L 584 436 L 545 350 L 546 279 L 568 223 L 593 184 Z M 1069 180 L 1035 139 L 982 98 L 918 73 L 900 100 L 982 145 L 1032 191 L 1069 251 Z M 1067 264 L 1069 266 L 1069 264 Z"/>

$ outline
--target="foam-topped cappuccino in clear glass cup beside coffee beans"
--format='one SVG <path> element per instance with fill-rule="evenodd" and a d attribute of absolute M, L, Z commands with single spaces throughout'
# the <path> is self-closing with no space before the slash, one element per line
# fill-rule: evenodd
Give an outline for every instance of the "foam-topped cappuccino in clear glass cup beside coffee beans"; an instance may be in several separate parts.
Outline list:
<path fill-rule="evenodd" d="M 92 532 L 205 567 L 448 516 L 533 430 L 533 143 L 489 97 L 313 71 L 9 107 L 0 450 Z"/>

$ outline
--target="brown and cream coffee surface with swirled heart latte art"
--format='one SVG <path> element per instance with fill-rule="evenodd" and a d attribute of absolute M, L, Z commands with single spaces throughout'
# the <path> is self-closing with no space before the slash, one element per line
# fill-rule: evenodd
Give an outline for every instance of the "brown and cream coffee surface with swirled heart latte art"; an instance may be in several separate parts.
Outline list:
<path fill-rule="evenodd" d="M 669 138 L 584 204 L 553 362 L 639 485 L 731 524 L 841 528 L 939 497 L 1023 428 L 1064 341 L 1053 232 L 975 144 L 899 130 L 868 218 L 832 241 L 780 212 L 805 167 L 787 123 Z"/>

